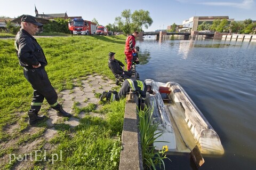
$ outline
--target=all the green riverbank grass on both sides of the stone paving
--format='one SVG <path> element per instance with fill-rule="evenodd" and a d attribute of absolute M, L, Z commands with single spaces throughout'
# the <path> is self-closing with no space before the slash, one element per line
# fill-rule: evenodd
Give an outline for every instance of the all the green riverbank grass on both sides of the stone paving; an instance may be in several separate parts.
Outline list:
<path fill-rule="evenodd" d="M 37 41 L 46 55 L 49 64 L 45 69 L 57 93 L 71 90 L 75 86 L 74 79 L 79 82 L 92 74 L 114 80 L 107 64 L 108 53 L 116 52 L 118 60 L 124 59 L 125 36 L 68 36 L 37 38 Z M 14 141 L 10 147 L 1 148 L 1 156 L 37 140 L 49 128 L 43 122 L 38 125 L 36 133 L 28 133 L 30 126 L 26 112 L 30 107 L 33 88 L 23 76 L 13 44 L 14 39 L 0 39 L 0 144 Z M 95 96 L 99 98 L 100 94 Z M 51 140 L 52 147 L 56 148 L 52 153 L 62 151 L 63 161 L 55 164 L 34 161 L 34 167 L 30 168 L 118 169 L 119 134 L 123 127 L 125 101 L 101 104 L 101 110 L 95 110 L 93 103 L 82 109 L 74 105 L 75 115 L 80 111 L 95 112 L 105 118 L 86 115 L 75 129 L 62 122 L 55 124 L 58 134 Z M 44 101 L 40 114 L 47 114 L 49 108 Z M 11 126 L 17 127 L 13 133 L 7 131 Z M 42 145 L 45 142 L 42 141 Z M 42 147 L 39 149 L 43 150 Z M 50 153 L 47 154 L 50 158 Z M 0 169 L 10 169 L 14 164 L 15 161 L 7 165 L 0 163 Z"/>

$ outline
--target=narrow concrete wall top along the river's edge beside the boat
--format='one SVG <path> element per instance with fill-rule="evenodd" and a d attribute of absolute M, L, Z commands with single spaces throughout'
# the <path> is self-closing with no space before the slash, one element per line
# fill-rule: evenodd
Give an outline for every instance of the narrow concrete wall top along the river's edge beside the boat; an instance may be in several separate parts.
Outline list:
<path fill-rule="evenodd" d="M 132 79 L 139 79 L 139 73 L 132 65 Z M 126 98 L 124 125 L 122 132 L 122 147 L 119 170 L 142 170 L 142 152 L 140 132 L 138 129 L 139 117 L 137 114 L 137 95 L 132 92 Z"/>

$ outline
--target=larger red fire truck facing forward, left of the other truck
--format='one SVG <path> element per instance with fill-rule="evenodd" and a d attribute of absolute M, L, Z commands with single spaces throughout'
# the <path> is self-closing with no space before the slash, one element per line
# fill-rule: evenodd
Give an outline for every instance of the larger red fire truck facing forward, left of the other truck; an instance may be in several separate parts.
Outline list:
<path fill-rule="evenodd" d="M 68 22 L 70 34 L 74 35 L 91 35 L 96 34 L 96 23 L 86 21 L 82 18 L 75 18 Z"/>

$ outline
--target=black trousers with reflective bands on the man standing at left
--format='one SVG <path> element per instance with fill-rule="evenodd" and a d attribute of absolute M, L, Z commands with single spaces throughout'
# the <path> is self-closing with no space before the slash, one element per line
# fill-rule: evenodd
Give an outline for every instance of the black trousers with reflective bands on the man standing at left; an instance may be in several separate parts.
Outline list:
<path fill-rule="evenodd" d="M 31 109 L 34 111 L 39 111 L 41 109 L 44 98 L 51 105 L 51 107 L 54 108 L 57 106 L 58 95 L 51 85 L 51 82 L 44 68 L 24 68 L 23 74 L 34 88 L 34 96 L 31 102 Z"/>

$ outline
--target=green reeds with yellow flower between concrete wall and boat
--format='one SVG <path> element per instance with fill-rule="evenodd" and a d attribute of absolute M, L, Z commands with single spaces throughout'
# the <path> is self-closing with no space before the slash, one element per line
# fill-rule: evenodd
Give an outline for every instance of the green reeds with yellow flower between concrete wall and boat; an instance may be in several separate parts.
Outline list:
<path fill-rule="evenodd" d="M 159 142 L 157 139 L 163 135 L 163 132 L 157 132 L 159 123 L 153 123 L 153 110 L 154 107 L 145 107 L 145 109 L 139 110 L 138 112 L 143 168 L 154 170 L 157 168 L 165 169 L 164 159 L 169 159 L 165 154 L 168 151 L 168 147 L 164 145 L 160 151 L 156 150 L 154 146 L 154 142 Z"/>

